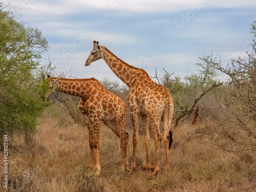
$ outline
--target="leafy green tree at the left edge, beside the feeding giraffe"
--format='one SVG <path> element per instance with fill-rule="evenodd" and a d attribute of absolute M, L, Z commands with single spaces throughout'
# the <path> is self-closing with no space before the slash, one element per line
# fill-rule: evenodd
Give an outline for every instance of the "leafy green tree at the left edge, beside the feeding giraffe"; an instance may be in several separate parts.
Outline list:
<path fill-rule="evenodd" d="M 38 74 L 47 68 L 40 61 L 48 49 L 48 41 L 37 28 L 17 22 L 0 4 L 1 144 L 5 134 L 9 141 L 20 133 L 28 140 L 35 130 L 36 119 L 46 104 L 43 96 L 47 86 Z"/>

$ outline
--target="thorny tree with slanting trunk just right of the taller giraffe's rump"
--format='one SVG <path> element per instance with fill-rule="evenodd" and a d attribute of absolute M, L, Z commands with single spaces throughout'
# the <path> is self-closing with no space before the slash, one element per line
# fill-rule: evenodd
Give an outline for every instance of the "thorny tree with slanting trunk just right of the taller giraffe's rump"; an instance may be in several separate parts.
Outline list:
<path fill-rule="evenodd" d="M 174 99 L 174 128 L 178 126 L 179 121 L 189 116 L 195 111 L 195 107 L 200 99 L 209 91 L 222 85 L 222 82 L 217 80 L 218 73 L 215 69 L 210 68 L 206 62 L 196 63 L 199 67 L 198 73 L 191 73 L 184 77 L 172 78 L 172 74 L 163 69 L 164 74 L 155 77 L 158 83 L 167 88 L 172 93 Z"/>

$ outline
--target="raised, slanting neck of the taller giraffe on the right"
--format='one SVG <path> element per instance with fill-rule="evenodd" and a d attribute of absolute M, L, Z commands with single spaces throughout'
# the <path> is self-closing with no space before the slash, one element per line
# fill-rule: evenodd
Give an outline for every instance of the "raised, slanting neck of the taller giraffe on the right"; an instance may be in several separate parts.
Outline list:
<path fill-rule="evenodd" d="M 144 70 L 130 66 L 128 63 L 115 56 L 107 48 L 102 47 L 102 49 L 102 58 L 108 64 L 110 69 L 116 74 L 116 76 L 121 79 L 128 87 L 131 88 L 134 82 L 138 81 L 138 77 L 142 75 L 144 78 L 150 78 Z"/>

